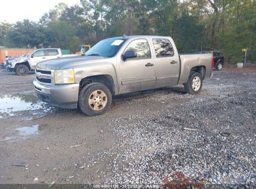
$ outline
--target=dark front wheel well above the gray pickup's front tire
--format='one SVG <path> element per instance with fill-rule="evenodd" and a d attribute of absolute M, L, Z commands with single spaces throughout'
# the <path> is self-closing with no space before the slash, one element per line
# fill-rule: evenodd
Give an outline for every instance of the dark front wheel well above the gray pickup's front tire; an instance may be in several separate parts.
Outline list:
<path fill-rule="evenodd" d="M 89 83 L 102 83 L 103 85 L 106 85 L 109 88 L 112 95 L 115 94 L 114 80 L 110 75 L 95 75 L 83 78 L 79 84 L 79 91 L 82 90 L 82 88 L 85 85 L 88 85 Z"/>

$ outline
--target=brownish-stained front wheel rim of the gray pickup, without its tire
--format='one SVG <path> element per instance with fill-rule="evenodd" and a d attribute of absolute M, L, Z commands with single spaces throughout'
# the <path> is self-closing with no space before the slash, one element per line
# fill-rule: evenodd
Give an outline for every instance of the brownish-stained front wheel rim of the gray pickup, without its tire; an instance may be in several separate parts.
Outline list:
<path fill-rule="evenodd" d="M 105 108 L 107 102 L 107 94 L 105 94 L 102 90 L 93 91 L 88 99 L 88 104 L 94 111 L 100 111 Z"/>

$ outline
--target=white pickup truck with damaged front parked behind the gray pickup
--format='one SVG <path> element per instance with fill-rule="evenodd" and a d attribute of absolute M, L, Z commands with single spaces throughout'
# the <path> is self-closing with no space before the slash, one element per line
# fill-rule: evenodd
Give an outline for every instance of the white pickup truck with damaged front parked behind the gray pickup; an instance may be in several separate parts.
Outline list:
<path fill-rule="evenodd" d="M 75 55 L 62 55 L 60 48 L 41 48 L 34 52 L 19 56 L 8 61 L 9 71 L 15 71 L 17 75 L 27 75 L 35 69 L 37 63 L 54 58 L 71 57 Z"/>

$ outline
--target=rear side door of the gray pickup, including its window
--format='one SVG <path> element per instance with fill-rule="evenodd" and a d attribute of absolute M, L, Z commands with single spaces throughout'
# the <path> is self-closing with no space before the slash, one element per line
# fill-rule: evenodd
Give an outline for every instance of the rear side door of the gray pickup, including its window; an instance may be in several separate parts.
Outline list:
<path fill-rule="evenodd" d="M 154 88 L 177 85 L 179 81 L 179 55 L 169 39 L 152 39 L 156 55 L 156 83 Z"/>

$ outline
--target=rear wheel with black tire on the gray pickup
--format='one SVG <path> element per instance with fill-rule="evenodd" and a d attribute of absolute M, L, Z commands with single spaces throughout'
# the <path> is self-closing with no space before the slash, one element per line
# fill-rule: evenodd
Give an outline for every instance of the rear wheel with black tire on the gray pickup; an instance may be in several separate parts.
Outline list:
<path fill-rule="evenodd" d="M 199 80 L 198 80 L 199 79 Z M 202 75 L 198 72 L 191 71 L 187 83 L 184 84 L 186 93 L 197 94 L 202 88 Z"/>

